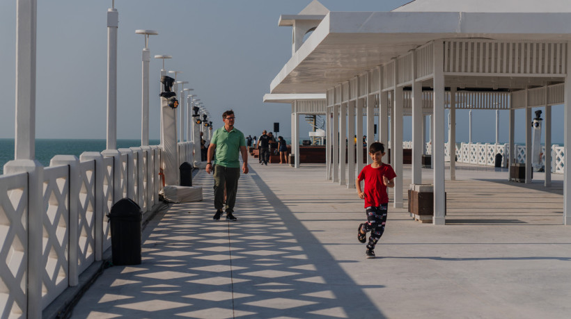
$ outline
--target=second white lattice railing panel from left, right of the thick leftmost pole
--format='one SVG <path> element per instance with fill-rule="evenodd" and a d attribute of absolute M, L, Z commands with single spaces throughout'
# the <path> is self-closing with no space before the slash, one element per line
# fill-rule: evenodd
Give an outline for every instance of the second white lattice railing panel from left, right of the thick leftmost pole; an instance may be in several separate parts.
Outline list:
<path fill-rule="evenodd" d="M 68 165 L 44 169 L 42 306 L 68 288 L 70 247 L 69 234 L 69 168 Z"/>

